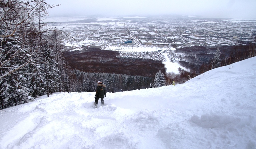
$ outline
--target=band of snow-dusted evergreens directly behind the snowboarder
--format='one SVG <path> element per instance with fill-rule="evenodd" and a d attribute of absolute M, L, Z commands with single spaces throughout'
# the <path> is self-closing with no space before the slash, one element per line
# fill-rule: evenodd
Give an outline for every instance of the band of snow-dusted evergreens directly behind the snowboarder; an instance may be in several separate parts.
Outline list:
<path fill-rule="evenodd" d="M 132 76 L 115 73 L 90 73 L 77 69 L 73 70 L 76 76 L 76 83 L 73 86 L 74 92 L 95 92 L 97 81 L 102 81 L 106 85 L 107 92 L 131 91 L 135 89 L 145 89 L 150 87 L 153 78 L 144 76 Z"/>

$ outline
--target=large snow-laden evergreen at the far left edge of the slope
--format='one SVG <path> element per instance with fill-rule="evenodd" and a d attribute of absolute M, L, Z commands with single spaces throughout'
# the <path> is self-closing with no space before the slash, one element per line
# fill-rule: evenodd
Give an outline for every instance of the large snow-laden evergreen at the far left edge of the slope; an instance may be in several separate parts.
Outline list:
<path fill-rule="evenodd" d="M 15 36 L 4 36 L 0 30 L 0 104 L 3 107 L 33 101 L 26 85 L 27 64 L 31 56 L 27 47 Z M 5 30 L 6 31 L 6 30 Z"/>

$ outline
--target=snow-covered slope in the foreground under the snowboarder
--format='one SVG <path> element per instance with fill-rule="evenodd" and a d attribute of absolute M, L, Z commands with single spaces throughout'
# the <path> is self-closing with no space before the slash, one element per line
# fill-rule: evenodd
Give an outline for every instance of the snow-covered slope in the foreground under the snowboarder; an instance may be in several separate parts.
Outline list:
<path fill-rule="evenodd" d="M 256 149 L 255 76 L 256 57 L 96 109 L 95 93 L 43 96 L 0 111 L 0 149 Z"/>

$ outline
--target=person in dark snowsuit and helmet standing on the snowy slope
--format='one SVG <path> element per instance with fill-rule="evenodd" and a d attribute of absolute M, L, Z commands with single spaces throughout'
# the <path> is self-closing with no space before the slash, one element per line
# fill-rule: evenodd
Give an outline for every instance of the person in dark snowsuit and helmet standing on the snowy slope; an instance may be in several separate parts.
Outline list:
<path fill-rule="evenodd" d="M 99 102 L 99 99 L 101 101 L 101 105 L 104 106 L 104 96 L 106 97 L 106 85 L 102 84 L 101 81 L 98 81 L 98 86 L 97 86 L 97 89 L 96 89 L 96 94 L 95 94 L 95 102 L 94 102 L 94 108 L 97 108 L 97 105 L 98 105 L 98 102 Z"/>

